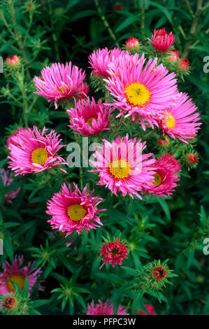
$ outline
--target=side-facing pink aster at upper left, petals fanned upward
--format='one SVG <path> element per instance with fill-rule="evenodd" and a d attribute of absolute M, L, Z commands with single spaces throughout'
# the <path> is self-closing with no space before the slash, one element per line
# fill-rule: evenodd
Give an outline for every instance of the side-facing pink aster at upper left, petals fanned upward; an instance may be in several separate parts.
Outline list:
<path fill-rule="evenodd" d="M 52 66 L 46 66 L 41 71 L 41 77 L 35 76 L 34 83 L 36 85 L 35 94 L 48 99 L 48 102 L 57 102 L 71 97 L 81 97 L 85 79 L 85 72 L 78 69 L 78 66 L 72 63 L 60 64 L 54 63 Z"/>

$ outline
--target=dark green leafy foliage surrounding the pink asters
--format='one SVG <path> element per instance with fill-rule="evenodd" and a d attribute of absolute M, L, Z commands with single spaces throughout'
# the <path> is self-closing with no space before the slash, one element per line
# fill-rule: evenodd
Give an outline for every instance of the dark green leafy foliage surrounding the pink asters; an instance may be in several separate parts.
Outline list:
<path fill-rule="evenodd" d="M 108 211 L 101 216 L 103 228 L 79 237 L 73 233 L 67 240 L 76 239 L 67 248 L 58 233 L 56 239 L 52 236 L 45 205 L 63 181 L 79 183 L 79 172 L 68 169 L 67 179 L 53 170 L 19 176 L 7 187 L 0 180 L 0 237 L 5 246 L 0 265 L 6 258 L 13 261 L 14 254 L 23 253 L 26 261 L 34 258 L 35 265 L 43 267 L 45 291 L 39 298 L 48 300 L 48 304 L 39 305 L 41 314 L 85 314 L 87 302 L 107 298 L 115 305 L 123 304 L 130 314 L 150 302 L 157 314 L 208 314 L 209 256 L 203 255 L 203 239 L 209 237 L 209 73 L 203 71 L 203 59 L 209 56 L 208 21 L 209 4 L 203 0 L 1 1 L 0 55 L 3 59 L 20 56 L 23 68 L 22 85 L 20 79 L 11 79 L 6 69 L 0 75 L 1 167 L 6 167 L 8 135 L 24 125 L 23 111 L 29 127 L 53 128 L 62 134 L 65 144 L 74 139 L 66 127 L 66 113 L 54 111 L 33 93 L 32 78 L 45 65 L 72 61 L 86 70 L 89 82 L 88 56 L 93 50 L 122 47 L 130 36 L 145 42 L 154 29 L 173 31 L 175 48 L 181 57 L 189 59 L 191 74 L 180 84 L 180 90 L 192 97 L 203 122 L 196 144 L 199 164 L 189 172 L 182 171 L 180 186 L 172 197 L 143 201 L 111 197 L 96 186 L 94 174 L 85 171 L 83 182 L 105 199 L 102 208 Z M 94 94 L 93 89 L 90 94 Z M 101 96 L 96 93 L 97 99 Z M 157 136 L 149 147 L 149 151 L 159 151 Z M 7 205 L 4 195 L 18 187 L 17 198 Z M 124 267 L 99 270 L 99 248 L 107 232 L 110 237 L 120 232 L 129 243 Z M 170 280 L 173 285 L 168 285 L 163 294 L 150 291 L 140 296 L 127 290 L 126 284 L 133 279 L 131 268 L 139 269 L 154 259 L 168 259 L 169 267 L 178 274 Z M 73 293 L 66 295 L 69 290 Z"/>

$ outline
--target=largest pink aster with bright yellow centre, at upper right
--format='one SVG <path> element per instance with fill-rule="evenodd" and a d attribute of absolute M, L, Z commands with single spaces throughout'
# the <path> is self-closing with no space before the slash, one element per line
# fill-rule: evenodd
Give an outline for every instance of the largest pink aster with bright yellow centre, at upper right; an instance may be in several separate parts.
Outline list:
<path fill-rule="evenodd" d="M 157 118 L 163 115 L 166 106 L 174 104 L 175 94 L 178 92 L 175 73 L 168 73 L 165 66 L 157 66 L 157 58 L 150 58 L 145 63 L 144 54 L 138 59 L 138 54 L 123 56 L 123 62 L 117 61 L 109 64 L 110 77 L 106 81 L 106 88 L 113 95 L 115 109 L 120 109 L 120 114 L 127 113 L 125 118 L 136 114 L 140 124 L 145 130 L 145 123 L 157 125 Z"/>

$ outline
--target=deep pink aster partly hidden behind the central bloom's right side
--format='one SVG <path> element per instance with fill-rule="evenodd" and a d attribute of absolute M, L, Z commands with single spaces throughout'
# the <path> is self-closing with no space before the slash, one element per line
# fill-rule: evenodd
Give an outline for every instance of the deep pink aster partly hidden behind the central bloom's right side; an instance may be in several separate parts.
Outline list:
<path fill-rule="evenodd" d="M 180 181 L 179 175 L 180 164 L 169 153 L 165 153 L 154 164 L 155 174 L 152 177 L 152 187 L 145 189 L 149 194 L 165 197 L 172 195 L 174 188 L 178 186 L 176 183 Z"/>

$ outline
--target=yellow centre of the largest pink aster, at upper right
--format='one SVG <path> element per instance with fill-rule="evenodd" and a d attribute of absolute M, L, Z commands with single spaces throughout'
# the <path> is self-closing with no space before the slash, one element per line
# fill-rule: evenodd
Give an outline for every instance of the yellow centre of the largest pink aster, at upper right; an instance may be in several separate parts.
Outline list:
<path fill-rule="evenodd" d="M 131 83 L 125 87 L 126 97 L 129 104 L 133 106 L 143 106 L 150 99 L 150 92 L 140 83 Z"/>

